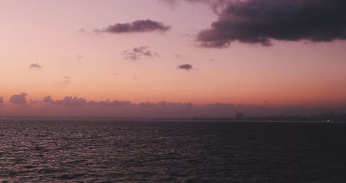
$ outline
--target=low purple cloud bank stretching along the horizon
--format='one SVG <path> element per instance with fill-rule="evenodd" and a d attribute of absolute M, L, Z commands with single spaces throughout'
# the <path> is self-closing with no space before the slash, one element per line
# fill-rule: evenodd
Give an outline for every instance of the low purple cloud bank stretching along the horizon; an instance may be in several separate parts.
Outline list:
<path fill-rule="evenodd" d="M 0 104 L 1 104 L 0 98 Z M 3 100 L 3 99 L 2 99 Z M 2 102 L 3 103 L 3 102 Z M 145 118 L 192 118 L 235 117 L 238 112 L 245 117 L 252 116 L 310 116 L 325 114 L 325 107 L 268 107 L 260 105 L 237 105 L 233 103 L 210 103 L 194 105 L 193 103 L 131 103 L 130 101 L 105 100 L 88 101 L 78 96 L 65 96 L 55 100 L 46 96 L 39 100 L 26 102 L 26 93 L 11 96 L 10 103 L 5 105 L 0 115 L 29 115 L 29 116 L 98 116 L 98 117 L 145 117 Z M 24 105 L 25 104 L 25 105 Z M 8 110 L 6 110 L 8 109 Z M 345 114 L 346 106 L 330 110 L 334 114 Z"/>

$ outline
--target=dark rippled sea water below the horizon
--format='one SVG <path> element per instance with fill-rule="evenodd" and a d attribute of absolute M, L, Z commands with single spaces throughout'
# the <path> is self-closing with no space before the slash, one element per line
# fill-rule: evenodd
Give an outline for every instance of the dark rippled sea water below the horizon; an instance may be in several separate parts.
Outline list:
<path fill-rule="evenodd" d="M 346 182 L 346 123 L 0 122 L 0 182 Z"/>

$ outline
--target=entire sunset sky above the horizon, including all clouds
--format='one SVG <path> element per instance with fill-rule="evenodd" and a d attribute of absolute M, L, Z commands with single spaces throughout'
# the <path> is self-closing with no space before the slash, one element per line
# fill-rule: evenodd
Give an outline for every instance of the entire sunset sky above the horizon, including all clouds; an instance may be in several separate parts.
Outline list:
<path fill-rule="evenodd" d="M 0 0 L 0 115 L 346 113 L 345 12 L 342 0 Z"/>

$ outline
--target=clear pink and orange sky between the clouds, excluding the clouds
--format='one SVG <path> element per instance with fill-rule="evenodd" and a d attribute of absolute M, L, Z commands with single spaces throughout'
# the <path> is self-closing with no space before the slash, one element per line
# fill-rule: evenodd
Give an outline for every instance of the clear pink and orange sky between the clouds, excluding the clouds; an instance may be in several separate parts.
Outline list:
<path fill-rule="evenodd" d="M 205 3 L 179 2 L 0 1 L 0 115 L 54 115 L 43 110 L 46 103 L 30 103 L 46 96 L 136 104 L 346 105 L 343 39 L 311 42 L 304 37 L 294 41 L 274 37 L 273 46 L 235 40 L 225 48 L 201 47 L 196 41 L 199 32 L 222 15 Z M 170 28 L 94 31 L 146 19 Z M 147 46 L 152 56 L 126 58 L 124 51 L 140 46 Z M 30 68 L 32 64 L 40 67 Z M 178 69 L 181 64 L 192 69 Z M 26 103 L 10 102 L 11 96 L 22 92 Z M 91 109 L 82 111 L 76 114 Z"/>

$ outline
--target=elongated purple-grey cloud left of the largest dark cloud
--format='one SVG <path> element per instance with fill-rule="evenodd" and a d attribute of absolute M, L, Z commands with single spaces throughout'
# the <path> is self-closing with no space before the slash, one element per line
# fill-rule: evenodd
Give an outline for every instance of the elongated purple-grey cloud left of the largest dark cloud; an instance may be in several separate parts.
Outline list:
<path fill-rule="evenodd" d="M 94 30 L 95 33 L 144 33 L 152 31 L 165 32 L 170 29 L 170 26 L 165 26 L 165 24 L 153 21 L 150 19 L 140 19 L 132 21 L 131 23 L 125 24 L 113 24 L 101 30 Z"/>

